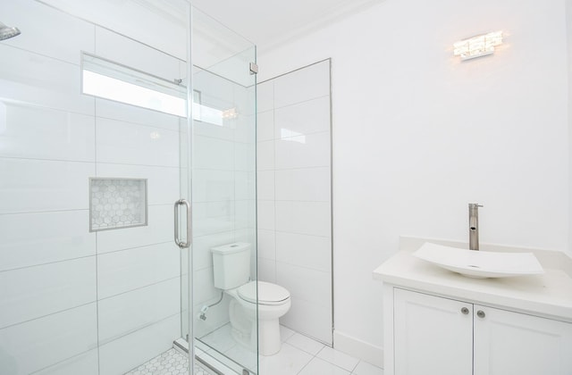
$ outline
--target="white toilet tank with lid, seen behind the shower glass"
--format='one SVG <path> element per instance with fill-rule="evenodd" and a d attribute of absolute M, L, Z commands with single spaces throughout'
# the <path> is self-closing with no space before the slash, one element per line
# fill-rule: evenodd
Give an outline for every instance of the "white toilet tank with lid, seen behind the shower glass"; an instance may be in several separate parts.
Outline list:
<path fill-rule="evenodd" d="M 235 242 L 211 248 L 214 266 L 214 287 L 240 287 L 250 278 L 250 244 Z"/>

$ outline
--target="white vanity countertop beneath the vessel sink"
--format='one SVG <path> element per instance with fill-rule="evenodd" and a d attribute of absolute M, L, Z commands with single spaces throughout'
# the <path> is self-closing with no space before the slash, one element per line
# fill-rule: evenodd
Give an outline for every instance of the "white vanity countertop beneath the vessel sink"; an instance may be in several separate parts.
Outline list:
<path fill-rule="evenodd" d="M 401 246 L 404 247 L 410 246 Z M 410 250 L 401 250 L 383 262 L 375 269 L 374 279 L 396 287 L 572 322 L 572 278 L 568 270 L 548 268 L 541 259 L 544 256 L 539 257 L 546 271 L 543 275 L 471 279 L 418 259 Z"/>

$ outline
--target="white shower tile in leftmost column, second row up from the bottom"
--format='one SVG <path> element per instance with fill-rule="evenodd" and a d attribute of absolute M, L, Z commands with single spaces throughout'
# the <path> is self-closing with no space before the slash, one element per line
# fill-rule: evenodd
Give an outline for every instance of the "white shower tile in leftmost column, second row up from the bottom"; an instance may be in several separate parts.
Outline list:
<path fill-rule="evenodd" d="M 0 369 L 25 375 L 97 347 L 96 304 L 0 329 Z"/>

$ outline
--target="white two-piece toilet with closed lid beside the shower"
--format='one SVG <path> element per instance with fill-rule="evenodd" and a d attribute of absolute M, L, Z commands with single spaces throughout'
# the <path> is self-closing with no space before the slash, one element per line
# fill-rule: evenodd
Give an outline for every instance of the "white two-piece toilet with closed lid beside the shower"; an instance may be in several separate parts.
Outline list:
<path fill-rule="evenodd" d="M 250 279 L 250 244 L 237 242 L 211 249 L 214 263 L 214 287 L 232 297 L 229 306 L 232 337 L 240 344 L 272 355 L 280 351 L 279 318 L 290 310 L 290 292 L 286 288 Z"/>

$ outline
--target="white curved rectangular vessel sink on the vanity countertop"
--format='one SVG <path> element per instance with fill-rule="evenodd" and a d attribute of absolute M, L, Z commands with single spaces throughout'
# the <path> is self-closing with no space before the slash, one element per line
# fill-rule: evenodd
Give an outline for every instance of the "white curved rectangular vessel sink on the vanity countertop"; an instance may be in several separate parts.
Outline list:
<path fill-rule="evenodd" d="M 413 255 L 446 270 L 476 279 L 544 273 L 543 266 L 532 253 L 475 251 L 425 242 Z"/>

